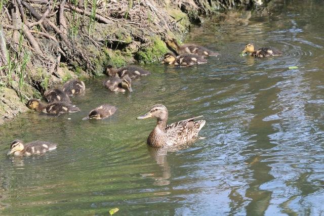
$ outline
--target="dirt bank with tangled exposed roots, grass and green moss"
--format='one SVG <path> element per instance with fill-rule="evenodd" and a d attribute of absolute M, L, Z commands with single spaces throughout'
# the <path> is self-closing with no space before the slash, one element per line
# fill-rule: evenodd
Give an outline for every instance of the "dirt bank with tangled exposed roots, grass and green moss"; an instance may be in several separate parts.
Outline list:
<path fill-rule="evenodd" d="M 1 0 L 0 124 L 30 98 L 107 65 L 150 63 L 201 16 L 269 0 Z"/>

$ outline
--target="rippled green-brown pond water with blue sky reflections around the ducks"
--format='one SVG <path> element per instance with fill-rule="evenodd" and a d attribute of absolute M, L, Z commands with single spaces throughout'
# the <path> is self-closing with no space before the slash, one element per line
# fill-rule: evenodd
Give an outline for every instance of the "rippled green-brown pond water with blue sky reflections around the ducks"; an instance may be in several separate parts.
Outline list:
<path fill-rule="evenodd" d="M 135 80 L 132 94 L 89 80 L 86 96 L 73 99 L 82 112 L 28 112 L 1 126 L 0 214 L 323 214 L 324 5 L 283 2 L 273 16 L 213 18 L 192 29 L 187 41 L 221 53 L 209 64 L 145 65 L 152 74 Z M 239 57 L 250 41 L 285 55 Z M 104 102 L 115 115 L 80 120 Z M 148 148 L 155 120 L 135 118 L 158 103 L 169 122 L 204 115 L 206 139 L 171 152 Z M 6 157 L 17 138 L 58 148 Z"/>

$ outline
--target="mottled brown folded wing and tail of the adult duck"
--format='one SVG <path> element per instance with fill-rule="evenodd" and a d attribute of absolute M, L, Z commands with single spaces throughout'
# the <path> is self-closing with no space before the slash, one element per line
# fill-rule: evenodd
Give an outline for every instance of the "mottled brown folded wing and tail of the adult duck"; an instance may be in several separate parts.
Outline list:
<path fill-rule="evenodd" d="M 200 129 L 205 125 L 205 120 L 193 121 L 203 115 L 182 120 L 166 126 L 166 134 L 172 144 L 183 144 L 197 137 Z"/>

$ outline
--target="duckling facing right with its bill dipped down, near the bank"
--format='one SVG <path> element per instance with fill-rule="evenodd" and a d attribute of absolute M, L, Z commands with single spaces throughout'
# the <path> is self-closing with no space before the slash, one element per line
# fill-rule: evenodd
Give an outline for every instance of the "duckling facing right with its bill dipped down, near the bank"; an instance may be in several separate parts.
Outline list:
<path fill-rule="evenodd" d="M 108 80 L 103 81 L 103 85 L 112 92 L 126 92 L 125 89 L 133 92 L 132 79 L 128 75 L 123 78 L 110 77 Z"/>

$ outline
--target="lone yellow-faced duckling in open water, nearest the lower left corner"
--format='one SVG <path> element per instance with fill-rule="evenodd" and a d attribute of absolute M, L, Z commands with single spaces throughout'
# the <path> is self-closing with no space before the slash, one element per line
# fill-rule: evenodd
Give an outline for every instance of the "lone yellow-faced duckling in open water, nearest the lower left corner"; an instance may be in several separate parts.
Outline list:
<path fill-rule="evenodd" d="M 24 144 L 21 140 L 14 140 L 10 145 L 10 151 L 7 155 L 15 156 L 42 154 L 56 149 L 56 144 L 44 141 L 34 141 Z"/>

